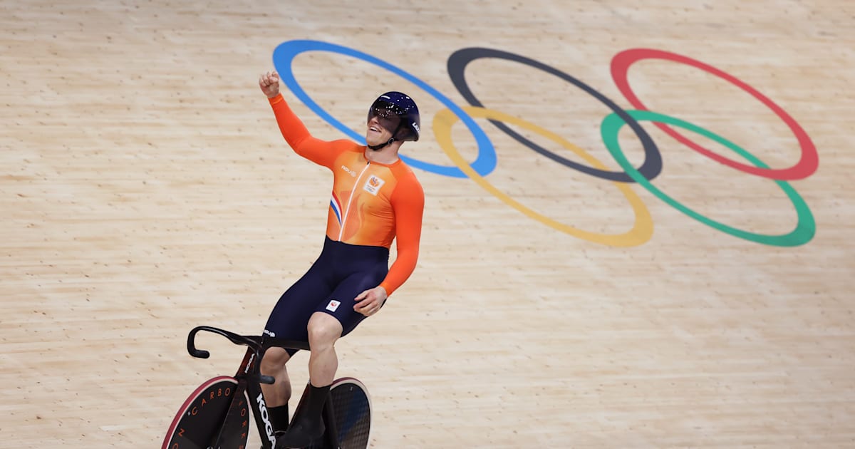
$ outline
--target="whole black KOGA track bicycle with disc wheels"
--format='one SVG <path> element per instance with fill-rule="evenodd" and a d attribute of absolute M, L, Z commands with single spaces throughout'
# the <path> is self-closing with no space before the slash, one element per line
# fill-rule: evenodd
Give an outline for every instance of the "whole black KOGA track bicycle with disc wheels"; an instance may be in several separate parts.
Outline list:
<path fill-rule="evenodd" d="M 235 345 L 247 346 L 246 355 L 235 375 L 221 375 L 204 381 L 181 405 L 170 424 L 162 449 L 245 449 L 250 434 L 250 413 L 254 417 L 262 449 L 274 449 L 274 428 L 268 417 L 261 384 L 274 378 L 262 375 L 259 364 L 269 347 L 309 351 L 309 343 L 257 335 L 239 335 L 221 328 L 198 326 L 187 335 L 187 352 L 208 358 L 197 349 L 199 331 L 220 334 Z M 298 416 L 306 386 L 293 416 Z M 371 398 L 365 385 L 352 377 L 333 381 L 322 412 L 323 436 L 307 449 L 365 449 L 371 430 Z"/>

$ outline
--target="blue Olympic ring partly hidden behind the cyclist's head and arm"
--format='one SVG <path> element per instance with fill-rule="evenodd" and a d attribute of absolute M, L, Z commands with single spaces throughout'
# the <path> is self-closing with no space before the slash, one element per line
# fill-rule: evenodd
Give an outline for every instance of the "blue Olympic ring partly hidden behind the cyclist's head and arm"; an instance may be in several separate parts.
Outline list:
<path fill-rule="evenodd" d="M 329 44 L 327 42 L 321 42 L 317 40 L 289 40 L 279 44 L 276 47 L 276 50 L 273 52 L 273 62 L 274 67 L 279 72 L 280 80 L 282 80 L 294 95 L 298 97 L 300 101 L 302 101 L 306 106 L 315 111 L 315 114 L 319 115 L 322 119 L 327 121 L 327 123 L 333 125 L 341 131 L 342 133 L 347 134 L 351 137 L 351 139 L 357 140 L 362 145 L 365 145 L 365 137 L 354 132 L 351 128 L 346 127 L 344 123 L 336 120 L 332 115 L 329 115 L 326 110 L 321 108 L 315 101 L 313 101 L 308 94 L 303 90 L 302 87 L 298 84 L 297 80 L 294 79 L 294 74 L 291 70 L 291 62 L 294 59 L 294 56 L 299 55 L 305 51 L 330 51 L 333 53 L 339 53 L 345 56 L 352 56 L 357 59 L 361 59 L 365 62 L 372 63 L 380 68 L 386 68 L 393 74 L 398 74 L 404 80 L 408 80 L 416 86 L 421 87 L 425 92 L 431 94 L 434 98 L 438 99 L 440 103 L 443 103 L 446 108 L 451 109 L 457 117 L 460 118 L 463 123 L 466 124 L 466 127 L 469 127 L 469 131 L 472 133 L 472 136 L 475 137 L 475 142 L 478 144 L 478 157 L 475 158 L 475 162 L 472 162 L 470 166 L 481 176 L 486 176 L 487 174 L 492 173 L 492 170 L 496 168 L 496 150 L 492 146 L 492 142 L 489 138 L 486 137 L 486 133 L 478 126 L 477 123 L 469 116 L 463 109 L 460 109 L 457 104 L 451 102 L 448 97 L 439 93 L 436 89 L 429 86 L 428 83 L 419 80 L 415 76 L 404 72 L 400 68 L 393 66 L 392 64 L 382 61 L 374 56 L 370 56 L 358 50 L 353 50 L 351 48 L 343 47 L 336 44 Z M 435 174 L 442 174 L 444 176 L 450 176 L 453 178 L 467 178 L 465 173 L 457 166 L 445 166 L 445 165 L 436 165 L 433 163 L 417 161 L 410 157 L 405 157 L 404 155 L 400 155 L 401 159 L 410 165 L 410 167 L 421 168 L 422 170 L 426 170 L 429 172 L 433 172 Z"/>

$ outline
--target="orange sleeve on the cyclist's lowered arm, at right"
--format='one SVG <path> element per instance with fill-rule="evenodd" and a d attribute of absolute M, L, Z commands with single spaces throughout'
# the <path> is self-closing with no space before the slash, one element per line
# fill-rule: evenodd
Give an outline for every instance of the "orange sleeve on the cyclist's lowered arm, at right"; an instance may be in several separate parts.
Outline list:
<path fill-rule="evenodd" d="M 391 201 L 392 209 L 395 210 L 395 245 L 398 257 L 389 268 L 386 279 L 380 282 L 380 287 L 386 288 L 386 294 L 389 296 L 413 274 L 419 258 L 425 194 L 414 174 L 410 172 L 406 182 L 395 188 Z"/>

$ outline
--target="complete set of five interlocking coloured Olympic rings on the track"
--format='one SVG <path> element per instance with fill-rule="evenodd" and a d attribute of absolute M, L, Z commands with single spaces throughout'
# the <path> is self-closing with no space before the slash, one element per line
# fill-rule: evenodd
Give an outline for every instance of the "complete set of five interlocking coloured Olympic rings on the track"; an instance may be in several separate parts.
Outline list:
<path fill-rule="evenodd" d="M 785 182 L 786 180 L 798 180 L 806 178 L 817 170 L 817 148 L 813 145 L 810 137 L 807 135 L 807 133 L 805 133 L 805 130 L 799 126 L 799 123 L 796 122 L 793 117 L 791 117 L 787 114 L 787 112 L 781 109 L 781 107 L 773 103 L 771 100 L 769 100 L 768 97 L 765 97 L 763 94 L 761 94 L 751 86 L 748 86 L 746 83 L 736 79 L 730 74 L 726 74 L 717 68 L 713 68 L 703 62 L 696 61 L 687 56 L 680 56 L 674 53 L 669 53 L 661 50 L 647 49 L 625 50 L 617 54 L 611 62 L 611 75 L 615 80 L 618 89 L 625 97 L 627 97 L 628 101 L 632 103 L 635 108 L 642 109 L 627 111 L 620 108 L 616 103 L 613 103 L 609 98 L 604 97 L 604 95 L 595 91 L 591 86 L 587 86 L 587 84 L 581 82 L 580 80 L 576 80 L 569 74 L 565 74 L 557 70 L 556 68 L 551 68 L 550 66 L 547 66 L 542 62 L 537 62 L 532 59 L 529 59 L 528 57 L 515 55 L 513 53 L 501 50 L 490 50 L 483 48 L 467 48 L 463 50 L 457 50 L 449 57 L 448 72 L 454 86 L 457 87 L 457 90 L 461 93 L 461 95 L 463 95 L 463 97 L 472 105 L 460 108 L 455 103 L 451 102 L 448 97 L 445 97 L 444 95 L 436 91 L 432 86 L 429 86 L 427 83 L 422 80 L 419 80 L 412 74 L 404 72 L 404 70 L 392 66 L 392 64 L 389 64 L 388 62 L 384 62 L 379 58 L 370 56 L 358 50 L 353 50 L 344 46 L 327 44 L 325 42 L 313 40 L 286 41 L 276 47 L 276 49 L 274 50 L 274 65 L 279 70 L 280 77 L 286 84 L 286 86 L 288 86 L 292 90 L 292 92 L 294 92 L 294 94 L 301 101 L 303 101 L 303 103 L 305 103 L 310 109 L 312 109 L 317 115 L 321 116 L 321 118 L 333 125 L 333 127 L 338 128 L 340 131 L 344 132 L 352 139 L 356 139 L 358 142 L 363 144 L 364 138 L 362 135 L 355 133 L 349 127 L 346 127 L 342 122 L 334 119 L 332 115 L 327 114 L 324 109 L 322 109 L 306 94 L 306 92 L 304 92 L 304 90 L 299 86 L 297 80 L 294 78 L 294 75 L 291 70 L 291 65 L 294 57 L 299 55 L 300 53 L 315 50 L 329 51 L 333 53 L 339 53 L 345 56 L 355 57 L 365 62 L 372 63 L 380 68 L 385 68 L 393 74 L 398 74 L 405 80 L 409 80 L 411 83 L 422 88 L 425 92 L 428 92 L 430 95 L 437 98 L 440 103 L 443 103 L 445 105 L 447 109 L 439 111 L 433 117 L 433 132 L 436 134 L 437 142 L 442 147 L 443 151 L 445 151 L 445 154 L 449 158 L 451 158 L 451 161 L 454 162 L 455 166 L 448 167 L 443 165 L 435 165 L 428 162 L 416 161 L 414 159 L 401 155 L 400 157 L 404 160 L 404 162 L 407 162 L 413 168 L 420 168 L 422 170 L 433 172 L 435 174 L 442 174 L 444 176 L 451 176 L 457 178 L 469 177 L 472 180 L 475 180 L 475 182 L 479 186 L 484 188 L 487 192 L 492 193 L 492 195 L 496 196 L 496 198 L 502 200 L 505 204 L 508 204 L 516 210 L 521 211 L 526 216 L 534 218 L 535 220 L 542 222 L 547 226 L 553 227 L 563 233 L 569 233 L 581 239 L 587 239 L 592 242 L 612 246 L 631 246 L 641 245 L 645 243 L 652 236 L 652 218 L 650 216 L 650 212 L 646 209 L 646 206 L 641 202 L 640 198 L 635 195 L 634 192 L 630 190 L 629 186 L 627 186 L 626 184 L 634 181 L 645 187 L 648 191 L 652 192 L 655 196 L 657 196 L 657 198 L 662 199 L 666 204 L 669 204 L 675 209 L 680 210 L 687 216 L 690 216 L 699 222 L 702 222 L 710 227 L 722 231 L 723 233 L 728 233 L 740 239 L 747 239 L 764 245 L 795 246 L 804 245 L 805 243 L 810 241 L 816 234 L 816 222 L 814 221 L 814 217 L 811 214 L 810 208 L 807 206 L 807 204 L 805 204 L 805 200 L 799 196 L 799 193 L 796 192 L 793 187 L 790 186 L 787 182 Z M 482 104 L 478 101 L 478 99 L 469 89 L 469 85 L 467 84 L 465 79 L 465 69 L 469 62 L 473 62 L 476 59 L 481 58 L 498 58 L 512 62 L 520 62 L 522 64 L 528 65 L 529 67 L 537 68 L 548 74 L 555 75 L 558 78 L 561 78 L 562 80 L 568 81 L 574 86 L 579 87 L 582 91 L 587 92 L 591 96 L 595 97 L 600 103 L 604 103 L 606 106 L 612 109 L 612 113 L 606 116 L 600 124 L 600 133 L 604 144 L 610 151 L 612 157 L 615 158 L 616 162 L 621 165 L 624 172 L 607 171 L 606 167 L 604 167 L 602 162 L 599 162 L 595 158 L 588 155 L 585 151 L 582 151 L 580 148 L 569 143 L 567 140 L 561 138 L 557 134 L 546 131 L 545 129 L 538 127 L 537 125 L 534 125 L 533 123 L 523 121 L 522 119 L 492 109 L 484 109 L 482 107 Z M 742 89 L 743 91 L 750 93 L 753 97 L 757 98 L 767 107 L 769 107 L 769 109 L 772 109 L 772 111 L 775 112 L 775 114 L 778 115 L 781 120 L 783 120 L 787 124 L 787 126 L 790 127 L 790 129 L 793 131 L 796 138 L 799 140 L 799 145 L 801 146 L 802 150 L 799 162 L 797 162 L 795 165 L 793 165 L 793 167 L 790 168 L 769 168 L 768 165 L 760 161 L 757 157 L 754 157 L 752 154 L 743 150 L 739 146 L 731 143 L 727 139 L 718 136 L 715 133 L 712 133 L 711 131 L 707 131 L 701 127 L 698 127 L 686 121 L 681 121 L 668 115 L 662 115 L 655 112 L 647 111 L 644 104 L 639 101 L 639 99 L 634 95 L 632 89 L 629 87 L 627 75 L 629 66 L 631 66 L 634 62 L 650 58 L 665 59 L 672 62 L 680 62 L 683 64 L 687 64 L 694 68 L 700 68 L 701 70 L 716 75 L 717 77 L 722 78 L 723 80 L 727 80 L 735 86 L 740 87 L 740 89 Z M 493 148 L 490 139 L 487 138 L 481 127 L 479 127 L 475 123 L 475 120 L 472 118 L 472 115 L 490 120 L 493 125 L 498 127 L 504 133 L 508 134 L 511 138 L 516 139 L 518 142 L 522 143 L 522 145 L 528 146 L 528 148 L 530 148 L 531 150 L 536 151 L 545 157 L 549 157 L 553 161 L 559 162 L 570 168 L 575 168 L 576 170 L 581 171 L 582 173 L 590 174 L 601 179 L 611 180 L 615 182 L 618 189 L 620 189 L 624 196 L 627 197 L 629 203 L 632 205 L 632 208 L 634 210 L 635 222 L 633 228 L 627 233 L 617 235 L 591 233 L 583 231 L 575 227 L 569 227 L 568 225 L 552 220 L 549 217 L 543 216 L 535 212 L 534 210 L 531 210 L 528 207 L 520 204 L 515 199 L 510 198 L 510 196 L 508 196 L 504 192 L 498 191 L 495 186 L 492 186 L 492 184 L 490 184 L 484 179 L 487 174 L 492 173 L 493 169 L 496 168 L 496 151 Z M 475 141 L 478 145 L 478 156 L 475 158 L 475 162 L 466 162 L 460 155 L 459 151 L 457 151 L 457 148 L 454 146 L 451 140 L 451 127 L 454 123 L 457 122 L 457 120 L 463 121 L 463 123 L 466 124 L 466 126 L 469 128 L 469 131 L 475 137 Z M 729 227 L 720 222 L 711 220 L 710 218 L 707 218 L 705 216 L 701 216 L 694 210 L 691 210 L 683 204 L 678 203 L 675 199 L 670 198 L 668 195 L 657 189 L 657 187 L 653 186 L 650 182 L 650 180 L 655 178 L 662 171 L 662 155 L 659 149 L 657 148 L 657 145 L 653 143 L 651 137 L 640 126 L 638 121 L 653 121 L 657 127 L 660 127 L 665 133 L 668 133 L 670 136 L 674 137 L 682 144 L 689 146 L 694 151 L 698 151 L 707 157 L 711 157 L 717 162 L 721 162 L 725 165 L 728 165 L 729 167 L 736 168 L 749 174 L 757 174 L 758 176 L 763 176 L 765 178 L 775 180 L 775 183 L 780 186 L 785 193 L 787 193 L 787 197 L 793 202 L 793 205 L 795 206 L 796 213 L 798 215 L 798 223 L 795 229 L 793 229 L 792 232 L 783 235 L 751 233 L 745 230 L 737 229 L 735 227 Z M 565 159 L 564 157 L 558 156 L 557 154 L 554 154 L 551 151 L 545 150 L 544 148 L 535 145 L 534 142 L 531 142 L 530 140 L 524 138 L 521 134 L 518 134 L 511 130 L 510 127 L 507 127 L 504 124 L 504 122 L 528 129 L 529 131 L 532 131 L 534 133 L 539 133 L 541 136 L 551 139 L 559 145 L 563 145 L 565 148 L 569 149 L 570 151 L 574 151 L 575 154 L 585 159 L 586 162 L 590 164 L 590 166 L 570 161 L 569 159 Z M 623 155 L 623 151 L 621 150 L 620 145 L 618 144 L 617 135 L 623 125 L 629 125 L 629 127 L 633 129 L 634 133 L 639 137 L 642 145 L 644 146 L 645 162 L 639 168 L 634 168 L 628 162 L 627 158 Z M 753 166 L 741 162 L 736 162 L 726 157 L 721 157 L 716 153 L 713 153 L 712 151 L 706 150 L 700 145 L 693 143 L 693 141 L 683 137 L 680 133 L 677 133 L 668 125 L 681 127 L 687 131 L 699 133 L 709 139 L 713 139 L 716 142 L 727 146 L 730 150 L 736 152 L 741 157 L 744 157 L 746 160 L 751 162 Z"/>

